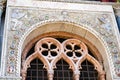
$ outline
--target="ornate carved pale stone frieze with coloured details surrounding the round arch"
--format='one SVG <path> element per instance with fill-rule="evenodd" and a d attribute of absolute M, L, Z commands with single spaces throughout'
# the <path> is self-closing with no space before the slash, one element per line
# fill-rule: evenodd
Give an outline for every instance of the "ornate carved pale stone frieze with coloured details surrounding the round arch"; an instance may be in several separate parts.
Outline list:
<path fill-rule="evenodd" d="M 88 30 L 92 28 L 107 43 L 116 72 L 120 69 L 120 64 L 116 63 L 120 59 L 120 52 L 113 30 L 112 13 L 13 7 L 9 13 L 6 75 L 17 75 L 17 57 L 19 57 L 17 51 L 21 36 L 36 23 L 54 21 L 79 24 Z"/>

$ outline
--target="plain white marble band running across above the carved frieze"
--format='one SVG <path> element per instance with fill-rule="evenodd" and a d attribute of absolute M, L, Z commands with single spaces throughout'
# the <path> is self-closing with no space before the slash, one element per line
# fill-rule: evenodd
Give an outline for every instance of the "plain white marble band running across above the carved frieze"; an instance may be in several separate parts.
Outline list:
<path fill-rule="evenodd" d="M 8 6 L 51 8 L 51 9 L 113 12 L 113 8 L 111 5 L 90 5 L 90 4 L 32 1 L 32 0 L 8 0 L 7 5 Z"/>

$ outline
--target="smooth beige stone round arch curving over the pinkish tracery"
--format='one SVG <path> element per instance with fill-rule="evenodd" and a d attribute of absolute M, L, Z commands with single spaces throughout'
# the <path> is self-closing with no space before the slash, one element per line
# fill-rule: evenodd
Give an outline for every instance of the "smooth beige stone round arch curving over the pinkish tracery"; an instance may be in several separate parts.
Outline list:
<path fill-rule="evenodd" d="M 93 38 L 90 39 L 88 36 L 92 36 Z M 52 21 L 45 22 L 43 24 L 36 24 L 31 29 L 28 29 L 28 31 L 22 36 L 22 40 L 20 40 L 18 52 L 22 52 L 23 59 L 30 50 L 31 46 L 33 46 L 39 39 L 42 39 L 44 37 L 75 38 L 84 42 L 88 46 L 88 48 L 95 54 L 95 57 L 97 57 L 98 61 L 102 62 L 104 60 L 104 68 L 107 71 L 107 79 L 110 80 L 112 78 L 111 74 L 108 74 L 111 72 L 107 70 L 114 69 L 113 66 L 109 66 L 112 65 L 112 63 L 110 62 L 111 59 L 108 55 L 109 50 L 107 50 L 107 45 L 100 37 L 100 35 L 96 34 L 91 29 L 84 28 L 84 26 L 67 21 Z M 94 42 L 97 42 L 97 44 Z M 26 46 L 27 48 L 25 48 Z M 100 47 L 102 50 L 100 49 Z M 105 56 L 107 56 L 107 58 Z M 108 61 L 108 59 L 110 59 L 110 61 Z"/>

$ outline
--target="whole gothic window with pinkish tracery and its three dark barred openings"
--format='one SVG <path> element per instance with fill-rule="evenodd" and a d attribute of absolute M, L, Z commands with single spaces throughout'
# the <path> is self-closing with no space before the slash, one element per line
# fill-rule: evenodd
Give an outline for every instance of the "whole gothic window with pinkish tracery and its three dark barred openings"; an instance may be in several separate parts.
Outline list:
<path fill-rule="evenodd" d="M 22 60 L 22 80 L 105 80 L 102 65 L 77 39 L 43 38 Z"/>

